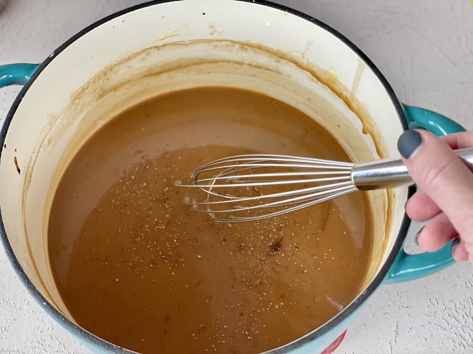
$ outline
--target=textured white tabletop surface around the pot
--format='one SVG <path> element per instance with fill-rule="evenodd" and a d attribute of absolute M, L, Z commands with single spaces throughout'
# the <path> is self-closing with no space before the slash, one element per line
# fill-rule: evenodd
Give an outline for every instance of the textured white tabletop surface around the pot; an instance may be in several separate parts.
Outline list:
<path fill-rule="evenodd" d="M 7 0 L 0 11 L 0 64 L 39 63 L 85 26 L 140 2 Z M 473 129 L 469 0 L 279 2 L 345 34 L 374 61 L 401 101 Z M 18 91 L 18 86 L 0 89 L 0 123 Z M 410 235 L 417 229 L 414 225 Z M 416 251 L 409 241 L 408 249 Z M 468 354 L 472 343 L 473 269 L 463 263 L 429 278 L 379 288 L 335 353 Z M 89 352 L 35 303 L 1 248 L 0 354 L 7 353 Z"/>

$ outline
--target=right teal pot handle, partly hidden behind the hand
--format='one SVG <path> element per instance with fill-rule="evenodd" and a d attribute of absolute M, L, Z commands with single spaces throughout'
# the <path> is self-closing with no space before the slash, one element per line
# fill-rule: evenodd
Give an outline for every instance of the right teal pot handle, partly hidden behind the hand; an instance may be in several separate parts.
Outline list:
<path fill-rule="evenodd" d="M 426 129 L 438 136 L 465 131 L 463 126 L 431 110 L 408 105 L 403 105 L 403 109 L 410 129 Z M 432 253 L 407 254 L 401 248 L 386 275 L 385 283 L 400 283 L 426 277 L 451 266 L 455 263 L 452 243 L 453 240 Z"/>

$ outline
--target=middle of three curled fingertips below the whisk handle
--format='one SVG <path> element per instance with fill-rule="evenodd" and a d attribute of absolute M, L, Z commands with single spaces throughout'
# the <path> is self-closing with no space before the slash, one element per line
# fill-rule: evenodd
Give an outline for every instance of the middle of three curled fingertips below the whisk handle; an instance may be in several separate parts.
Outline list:
<path fill-rule="evenodd" d="M 427 252 L 435 252 L 445 246 L 458 233 L 445 213 L 441 212 L 425 225 L 417 236 L 417 243 Z"/>

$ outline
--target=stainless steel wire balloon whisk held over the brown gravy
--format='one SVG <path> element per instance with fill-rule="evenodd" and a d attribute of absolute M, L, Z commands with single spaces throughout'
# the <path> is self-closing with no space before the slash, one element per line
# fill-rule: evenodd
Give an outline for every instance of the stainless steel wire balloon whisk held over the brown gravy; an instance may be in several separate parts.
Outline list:
<path fill-rule="evenodd" d="M 473 167 L 473 148 L 455 150 Z M 339 162 L 286 155 L 238 155 L 215 160 L 192 174 L 203 201 L 186 199 L 217 222 L 256 221 L 298 211 L 355 191 L 412 185 L 402 160 Z M 274 192 L 275 188 L 279 188 Z"/>

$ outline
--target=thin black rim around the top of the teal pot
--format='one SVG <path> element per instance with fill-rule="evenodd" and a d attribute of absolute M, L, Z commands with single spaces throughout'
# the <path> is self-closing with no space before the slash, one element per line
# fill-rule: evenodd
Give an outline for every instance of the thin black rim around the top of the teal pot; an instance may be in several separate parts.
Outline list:
<path fill-rule="evenodd" d="M 29 87 L 31 86 L 31 84 L 33 84 L 37 76 L 41 74 L 44 68 L 48 66 L 54 60 L 57 54 L 59 54 L 61 51 L 64 51 L 71 43 L 78 40 L 84 34 L 87 34 L 94 28 L 98 27 L 99 25 L 103 25 L 104 23 L 114 19 L 115 17 L 122 16 L 124 14 L 138 10 L 140 8 L 146 8 L 146 7 L 158 5 L 161 3 L 177 2 L 177 1 L 182 1 L 182 0 L 153 0 L 153 1 L 149 1 L 149 2 L 139 4 L 139 5 L 132 6 L 130 8 L 125 8 L 121 11 L 115 12 L 112 15 L 109 15 L 107 17 L 104 17 L 96 21 L 92 25 L 87 26 L 86 28 L 82 29 L 77 34 L 72 36 L 69 40 L 61 44 L 61 46 L 59 46 L 55 51 L 53 51 L 53 53 L 50 56 L 48 56 L 43 61 L 43 63 L 36 69 L 34 74 L 28 80 L 26 85 L 23 86 L 21 91 L 18 93 L 18 96 L 15 98 L 15 101 L 13 102 L 0 131 L 0 146 L 2 146 L 5 142 L 8 128 L 13 119 L 13 116 L 15 115 L 15 112 L 18 109 L 18 106 L 20 102 L 22 101 L 23 97 L 27 93 Z M 303 12 L 294 10 L 287 6 L 273 3 L 271 1 L 267 1 L 267 0 L 232 0 L 232 1 L 253 3 L 253 4 L 263 5 L 270 8 L 279 9 L 291 15 L 295 15 L 303 20 L 309 21 L 312 24 L 323 28 L 325 31 L 329 32 L 330 34 L 333 34 L 335 37 L 341 40 L 345 45 L 347 45 L 352 51 L 354 51 L 358 55 L 358 57 L 361 60 L 363 60 L 363 62 L 373 71 L 373 73 L 377 76 L 378 80 L 384 86 L 386 92 L 391 98 L 391 101 L 394 105 L 394 108 L 397 112 L 397 115 L 399 117 L 399 120 L 401 122 L 403 129 L 407 130 L 409 128 L 401 103 L 398 101 L 391 85 L 387 82 L 387 80 L 385 79 L 383 74 L 381 74 L 381 72 L 376 67 L 376 65 L 370 59 L 368 59 L 368 57 L 344 35 L 336 31 L 329 25 L 326 25 L 325 23 L 315 19 L 314 17 L 311 17 Z M 1 152 L 2 152 L 2 149 L 0 148 L 0 161 L 1 161 Z M 415 188 L 409 187 L 408 197 L 411 197 L 414 192 L 415 192 Z M 376 288 L 382 283 L 387 272 L 391 268 L 391 265 L 393 264 L 394 259 L 399 253 L 399 250 L 403 246 L 403 240 L 404 240 L 405 235 L 407 234 L 407 230 L 409 228 L 410 222 L 411 220 L 407 217 L 406 214 L 404 214 L 403 221 L 399 229 L 399 233 L 396 237 L 393 248 L 391 249 L 390 253 L 388 254 L 386 258 L 385 263 L 383 264 L 381 269 L 378 271 L 378 274 L 376 275 L 376 277 L 373 278 L 373 280 L 368 284 L 368 287 L 366 287 L 365 290 L 360 295 L 358 295 L 347 307 L 345 307 L 341 312 L 335 315 L 332 319 L 328 320 L 322 326 L 318 327 L 317 329 L 314 329 L 312 332 L 308 333 L 307 335 L 303 337 L 299 337 L 298 339 L 284 346 L 280 346 L 278 348 L 269 350 L 265 353 L 282 354 L 282 353 L 288 353 L 294 349 L 297 349 L 307 344 L 308 342 L 315 340 L 317 337 L 320 337 L 323 334 L 329 332 L 330 330 L 335 328 L 337 325 L 339 325 L 343 320 L 348 318 L 353 312 L 355 312 L 368 299 L 368 297 L 376 290 Z M 21 264 L 19 263 L 15 253 L 13 252 L 13 249 L 7 237 L 5 225 L 3 223 L 3 218 L 1 215 L 1 208 L 0 208 L 0 238 L 5 249 L 5 253 L 7 254 L 7 257 L 11 265 L 13 266 L 13 269 L 17 273 L 23 285 L 27 288 L 28 292 L 35 298 L 35 300 L 40 304 L 40 306 L 43 307 L 43 309 L 51 317 L 53 317 L 54 320 L 60 323 L 62 327 L 64 327 L 65 329 L 68 329 L 74 336 L 78 337 L 79 339 L 85 340 L 86 342 L 89 342 L 94 346 L 104 349 L 105 351 L 109 351 L 112 353 L 124 353 L 124 354 L 136 353 L 129 349 L 125 349 L 120 346 L 114 345 L 110 342 L 107 342 L 106 340 L 88 332 L 86 329 L 83 329 L 82 327 L 76 325 L 71 320 L 69 320 L 64 314 L 62 314 L 59 310 L 53 307 L 53 305 L 51 305 L 44 298 L 44 296 L 39 292 L 39 290 L 34 286 L 32 281 L 28 278 L 28 276 L 26 275 L 26 272 L 21 267 Z"/>

